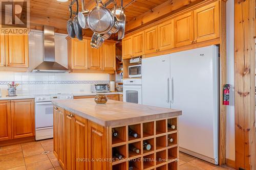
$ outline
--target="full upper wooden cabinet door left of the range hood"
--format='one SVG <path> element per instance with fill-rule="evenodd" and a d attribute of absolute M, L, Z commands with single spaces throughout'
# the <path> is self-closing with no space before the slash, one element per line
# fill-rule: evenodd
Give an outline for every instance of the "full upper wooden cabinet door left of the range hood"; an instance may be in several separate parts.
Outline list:
<path fill-rule="evenodd" d="M 28 67 L 28 35 L 6 35 L 6 66 Z"/>

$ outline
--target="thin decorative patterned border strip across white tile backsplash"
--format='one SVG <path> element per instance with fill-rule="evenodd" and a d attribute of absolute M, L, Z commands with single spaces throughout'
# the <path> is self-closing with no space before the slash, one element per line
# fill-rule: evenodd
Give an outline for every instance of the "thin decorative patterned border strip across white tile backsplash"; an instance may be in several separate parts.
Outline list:
<path fill-rule="evenodd" d="M 0 81 L 0 85 L 12 83 L 11 81 Z M 110 81 L 15 81 L 18 84 L 104 84 Z"/>

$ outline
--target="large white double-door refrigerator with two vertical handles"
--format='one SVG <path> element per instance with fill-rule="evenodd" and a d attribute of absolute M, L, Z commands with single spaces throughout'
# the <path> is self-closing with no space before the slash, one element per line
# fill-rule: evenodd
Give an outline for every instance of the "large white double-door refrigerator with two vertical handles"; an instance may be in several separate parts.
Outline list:
<path fill-rule="evenodd" d="M 142 104 L 182 110 L 180 151 L 218 164 L 219 49 L 142 59 Z"/>

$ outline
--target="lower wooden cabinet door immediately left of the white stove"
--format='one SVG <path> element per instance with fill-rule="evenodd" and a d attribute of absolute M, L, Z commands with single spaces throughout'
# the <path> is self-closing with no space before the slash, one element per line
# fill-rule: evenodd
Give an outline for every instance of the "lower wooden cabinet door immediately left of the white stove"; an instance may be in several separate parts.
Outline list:
<path fill-rule="evenodd" d="M 35 135 L 34 100 L 13 100 L 11 102 L 12 138 Z"/>

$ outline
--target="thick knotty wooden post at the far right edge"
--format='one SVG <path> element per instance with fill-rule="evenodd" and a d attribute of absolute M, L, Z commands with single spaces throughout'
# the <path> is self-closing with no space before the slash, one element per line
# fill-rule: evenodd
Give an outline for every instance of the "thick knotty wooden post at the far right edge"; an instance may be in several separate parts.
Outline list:
<path fill-rule="evenodd" d="M 234 0 L 236 168 L 256 169 L 255 0 Z"/>

